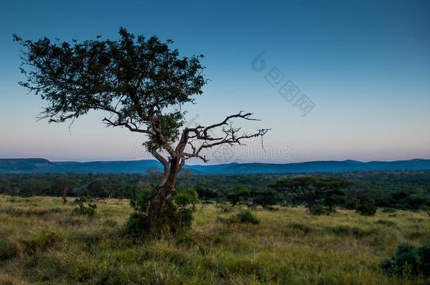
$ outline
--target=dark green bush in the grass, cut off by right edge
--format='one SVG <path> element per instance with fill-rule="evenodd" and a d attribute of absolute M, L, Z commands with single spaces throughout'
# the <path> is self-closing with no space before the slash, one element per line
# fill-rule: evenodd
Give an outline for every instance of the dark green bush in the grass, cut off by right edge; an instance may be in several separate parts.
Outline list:
<path fill-rule="evenodd" d="M 391 276 L 430 276 L 430 246 L 414 248 L 408 243 L 400 243 L 395 255 L 383 260 L 380 266 Z"/>

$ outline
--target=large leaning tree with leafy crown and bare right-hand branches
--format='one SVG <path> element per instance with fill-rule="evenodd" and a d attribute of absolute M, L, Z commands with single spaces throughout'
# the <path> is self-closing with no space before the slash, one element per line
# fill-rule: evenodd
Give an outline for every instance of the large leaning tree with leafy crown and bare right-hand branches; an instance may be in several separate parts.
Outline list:
<path fill-rule="evenodd" d="M 66 122 L 90 110 L 106 113 L 109 127 L 124 127 L 145 134 L 145 146 L 163 165 L 163 177 L 147 212 L 154 221 L 175 189 L 178 172 L 189 158 L 205 163 L 204 152 L 214 146 L 242 144 L 244 139 L 263 137 L 269 129 L 241 134 L 234 119 L 255 120 L 252 113 L 228 115 L 213 125 L 185 127 L 183 105 L 195 103 L 207 80 L 200 63 L 203 56 L 180 57 L 170 49 L 171 40 L 135 37 L 119 30 L 120 39 L 51 42 L 14 35 L 21 46 L 20 85 L 48 102 L 39 118 Z"/>

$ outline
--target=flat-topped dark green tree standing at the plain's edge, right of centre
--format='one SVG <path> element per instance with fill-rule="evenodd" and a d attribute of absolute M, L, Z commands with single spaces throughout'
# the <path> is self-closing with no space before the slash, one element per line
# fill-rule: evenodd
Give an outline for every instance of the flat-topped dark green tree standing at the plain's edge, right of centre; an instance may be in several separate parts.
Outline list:
<path fill-rule="evenodd" d="M 335 195 L 338 196 L 341 193 L 340 190 L 349 185 L 350 182 L 344 179 L 304 176 L 279 180 L 272 184 L 271 188 L 280 191 L 286 198 L 306 203 L 311 213 L 321 213 L 324 199 L 329 200 Z M 333 210 L 332 203 L 325 204 L 328 206 L 328 211 Z"/>

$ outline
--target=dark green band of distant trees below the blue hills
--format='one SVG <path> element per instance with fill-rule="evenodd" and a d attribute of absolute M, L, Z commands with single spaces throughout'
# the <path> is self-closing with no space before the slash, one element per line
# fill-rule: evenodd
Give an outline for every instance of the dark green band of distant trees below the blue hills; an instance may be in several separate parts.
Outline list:
<path fill-rule="evenodd" d="M 31 174 L 0 175 L 0 193 L 20 196 L 135 198 L 154 187 L 157 172 L 146 175 Z M 430 207 L 430 172 L 348 172 L 313 175 L 190 175 L 178 189 L 192 187 L 203 203 L 243 203 L 271 208 L 306 205 L 312 213 L 336 209 L 383 208 L 419 210 Z"/>

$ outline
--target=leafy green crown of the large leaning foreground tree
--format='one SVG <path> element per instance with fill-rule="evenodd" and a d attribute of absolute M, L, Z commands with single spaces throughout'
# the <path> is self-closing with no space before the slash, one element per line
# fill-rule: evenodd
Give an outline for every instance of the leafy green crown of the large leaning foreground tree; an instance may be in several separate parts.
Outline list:
<path fill-rule="evenodd" d="M 13 39 L 20 44 L 20 85 L 47 101 L 41 118 L 65 122 L 91 110 L 110 113 L 103 122 L 148 135 L 149 151 L 166 148 L 180 135 L 180 106 L 202 94 L 202 56 L 180 57 L 171 40 L 135 36 L 83 42 Z M 109 118 L 109 119 L 108 119 Z M 163 140 L 160 139 L 163 136 Z"/>

